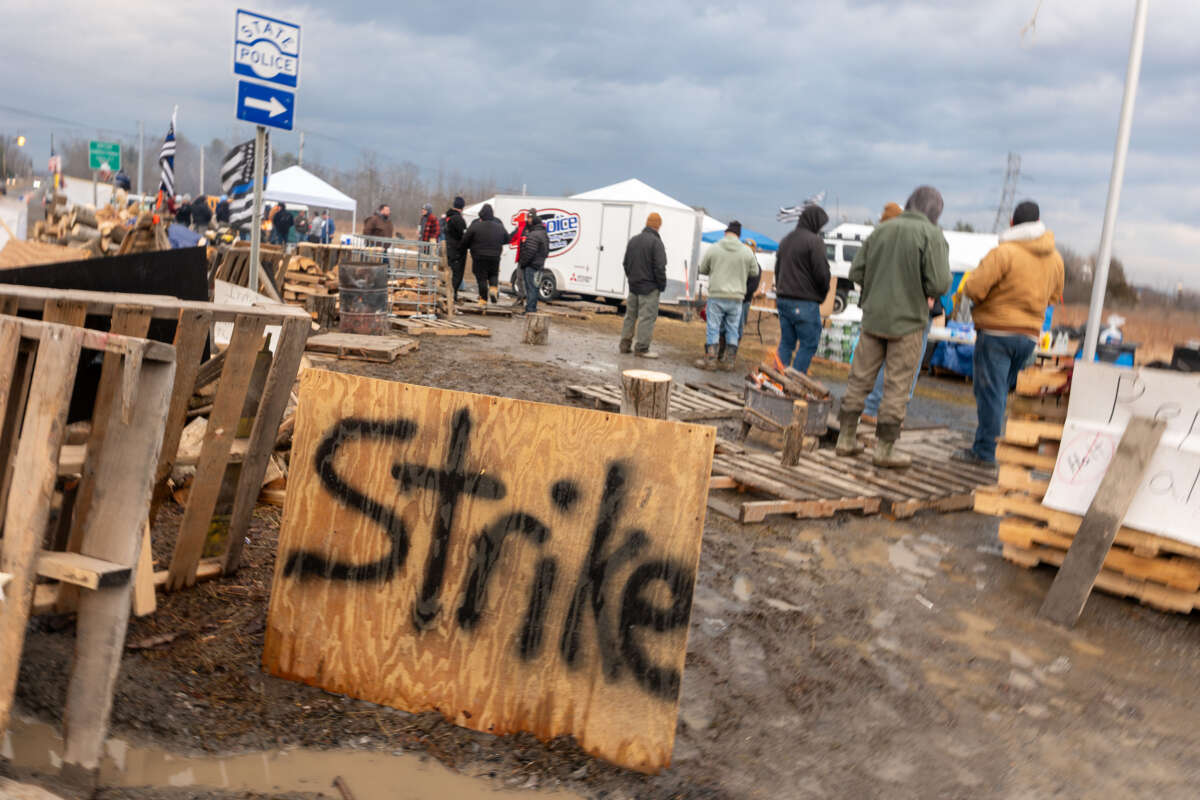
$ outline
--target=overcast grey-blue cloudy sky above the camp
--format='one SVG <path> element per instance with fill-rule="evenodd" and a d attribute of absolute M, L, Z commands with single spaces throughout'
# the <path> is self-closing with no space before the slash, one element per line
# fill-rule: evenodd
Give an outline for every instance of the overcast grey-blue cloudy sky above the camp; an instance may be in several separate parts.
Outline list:
<path fill-rule="evenodd" d="M 0 132 L 38 110 L 134 131 L 172 104 L 193 140 L 241 136 L 232 40 L 239 4 L 124 0 L 120 12 L 0 0 Z M 918 184 L 942 222 L 991 229 L 1006 154 L 1021 156 L 1058 241 L 1097 248 L 1134 0 L 760 0 L 421 4 L 259 0 L 302 26 L 306 158 L 355 148 L 464 175 L 580 192 L 626 178 L 769 235 L 775 209 L 818 191 L 834 216 L 878 215 Z M 28 31 L 29 35 L 19 35 Z M 1200 2 L 1154 0 L 1117 227 L 1132 277 L 1200 287 Z M 16 34 L 16 35 L 14 35 Z M 22 132 L 25 132 L 25 131 Z M 40 140 L 41 139 L 41 140 Z M 294 139 L 276 144 L 294 150 Z M 176 164 L 176 172 L 184 167 Z M 473 198 L 468 198 L 470 200 Z"/>

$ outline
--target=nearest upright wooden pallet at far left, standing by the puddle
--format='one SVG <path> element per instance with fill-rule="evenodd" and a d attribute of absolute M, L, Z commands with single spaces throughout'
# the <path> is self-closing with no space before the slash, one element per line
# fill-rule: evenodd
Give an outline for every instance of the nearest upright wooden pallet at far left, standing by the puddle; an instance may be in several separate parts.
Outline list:
<path fill-rule="evenodd" d="M 78 552 L 49 552 L 43 541 L 60 446 L 77 365 L 89 350 L 102 354 L 104 366 L 79 497 L 66 512 Z M 11 576 L 0 602 L 0 730 L 12 710 L 37 581 L 79 588 L 62 727 L 65 770 L 84 776 L 100 766 L 174 375 L 168 344 L 0 318 L 0 572 Z"/>

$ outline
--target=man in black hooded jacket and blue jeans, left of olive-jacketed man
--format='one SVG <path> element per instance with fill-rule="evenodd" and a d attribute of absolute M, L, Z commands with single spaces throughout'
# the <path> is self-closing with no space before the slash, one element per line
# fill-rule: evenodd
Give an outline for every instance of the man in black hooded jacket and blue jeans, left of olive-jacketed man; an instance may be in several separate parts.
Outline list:
<path fill-rule="evenodd" d="M 775 255 L 779 360 L 805 373 L 821 343 L 821 303 L 829 294 L 829 261 L 821 237 L 827 222 L 829 215 L 820 205 L 804 206 Z"/>

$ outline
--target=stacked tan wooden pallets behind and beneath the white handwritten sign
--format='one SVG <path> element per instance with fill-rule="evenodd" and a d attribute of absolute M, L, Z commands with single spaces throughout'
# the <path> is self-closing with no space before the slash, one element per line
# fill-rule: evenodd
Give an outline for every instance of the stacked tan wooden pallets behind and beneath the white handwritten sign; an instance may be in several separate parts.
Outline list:
<path fill-rule="evenodd" d="M 1044 372 L 1044 371 L 1043 371 Z M 1031 373 L 1028 391 L 1045 374 Z M 1026 398 L 1045 403 L 1045 398 Z M 1026 403 L 1022 408 L 1030 408 Z M 1061 407 L 1064 409 L 1066 403 Z M 1057 403 L 1048 404 L 1052 416 Z M 1042 505 L 1055 469 L 1063 426 L 1056 420 L 1019 419 L 1010 414 L 1003 439 L 996 447 L 1000 462 L 994 491 L 976 495 L 976 511 L 1002 517 L 998 535 L 1004 558 L 1024 567 L 1039 564 L 1061 566 L 1082 517 Z M 1163 610 L 1189 613 L 1200 606 L 1200 547 L 1163 536 L 1121 528 L 1104 560 L 1097 588 L 1134 597 Z"/>

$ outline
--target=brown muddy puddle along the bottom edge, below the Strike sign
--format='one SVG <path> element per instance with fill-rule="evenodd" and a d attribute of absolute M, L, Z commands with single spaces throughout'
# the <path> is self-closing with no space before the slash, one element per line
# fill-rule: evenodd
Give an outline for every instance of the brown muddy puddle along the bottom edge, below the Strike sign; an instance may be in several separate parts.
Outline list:
<path fill-rule="evenodd" d="M 0 738 L 0 757 L 20 770 L 54 774 L 62 765 L 62 738 L 53 726 L 14 715 Z M 482 777 L 452 772 L 433 759 L 372 751 L 275 750 L 240 756 L 179 756 L 137 747 L 120 739 L 104 742 L 100 783 L 106 787 L 197 787 L 229 792 L 305 792 L 338 796 L 341 777 L 355 800 L 461 798 L 497 800 L 536 796 L 574 800 L 565 792 L 504 789 Z M 532 789 L 532 787 L 529 787 Z"/>

